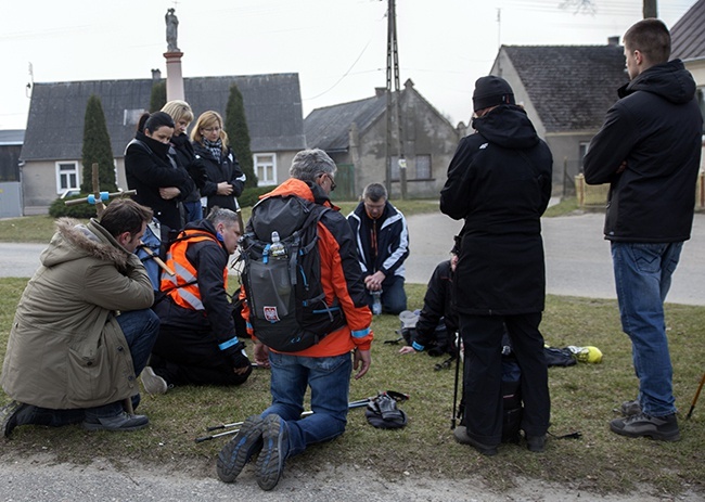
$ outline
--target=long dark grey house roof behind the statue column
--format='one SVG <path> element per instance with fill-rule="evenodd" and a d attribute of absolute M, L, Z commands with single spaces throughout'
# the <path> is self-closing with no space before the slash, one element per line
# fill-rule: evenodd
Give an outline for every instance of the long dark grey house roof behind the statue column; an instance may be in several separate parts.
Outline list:
<path fill-rule="evenodd" d="M 113 155 L 123 157 L 139 116 L 149 110 L 153 83 L 153 79 L 35 83 L 22 159 L 80 158 L 91 94 L 101 98 Z M 253 152 L 305 146 L 298 74 L 184 78 L 194 115 L 207 110 L 225 115 L 232 83 L 243 96 Z"/>

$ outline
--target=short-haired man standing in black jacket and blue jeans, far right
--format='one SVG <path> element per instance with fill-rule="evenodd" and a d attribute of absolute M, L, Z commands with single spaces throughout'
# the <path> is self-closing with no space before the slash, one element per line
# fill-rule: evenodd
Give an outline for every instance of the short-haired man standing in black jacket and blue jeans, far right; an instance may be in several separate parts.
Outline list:
<path fill-rule="evenodd" d="M 610 183 L 604 226 L 611 242 L 621 329 L 632 344 L 637 402 L 612 432 L 680 439 L 664 300 L 683 241 L 690 239 L 700 168 L 703 118 L 695 81 L 670 56 L 670 34 L 658 20 L 624 36 L 630 82 L 607 112 L 585 157 L 589 184 Z"/>

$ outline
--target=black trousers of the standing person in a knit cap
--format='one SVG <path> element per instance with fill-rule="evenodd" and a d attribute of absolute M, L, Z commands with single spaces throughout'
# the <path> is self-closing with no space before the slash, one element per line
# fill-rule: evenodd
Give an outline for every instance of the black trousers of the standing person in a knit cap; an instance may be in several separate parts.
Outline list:
<path fill-rule="evenodd" d="M 502 440 L 502 335 L 504 326 L 522 370 L 524 401 L 522 429 L 529 436 L 544 435 L 549 428 L 551 399 L 543 336 L 539 332 L 541 313 L 520 316 L 460 314 L 460 335 L 464 344 L 463 398 L 461 424 L 473 439 L 489 446 Z"/>

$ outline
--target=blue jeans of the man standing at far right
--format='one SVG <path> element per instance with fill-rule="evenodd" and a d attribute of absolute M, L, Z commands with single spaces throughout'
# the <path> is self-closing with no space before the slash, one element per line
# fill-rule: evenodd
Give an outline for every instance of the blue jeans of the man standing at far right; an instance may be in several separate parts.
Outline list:
<path fill-rule="evenodd" d="M 621 329 L 631 338 L 639 403 L 652 416 L 676 412 L 664 301 L 682 247 L 682 242 L 612 243 Z"/>

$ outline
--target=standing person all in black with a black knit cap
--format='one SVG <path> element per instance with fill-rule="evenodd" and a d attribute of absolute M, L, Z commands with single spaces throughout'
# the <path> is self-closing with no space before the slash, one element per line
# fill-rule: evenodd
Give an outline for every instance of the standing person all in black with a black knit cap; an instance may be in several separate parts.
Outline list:
<path fill-rule="evenodd" d="M 522 370 L 522 428 L 529 450 L 542 451 L 550 419 L 548 370 L 539 332 L 546 295 L 540 218 L 551 196 L 553 158 L 509 83 L 475 83 L 475 134 L 463 138 L 440 192 L 440 210 L 464 218 L 453 281 L 465 347 L 459 442 L 497 453 L 502 439 L 504 325 Z"/>

